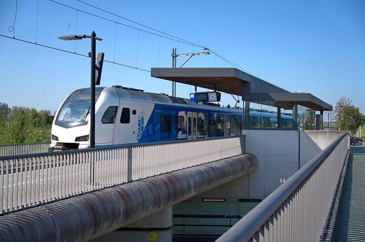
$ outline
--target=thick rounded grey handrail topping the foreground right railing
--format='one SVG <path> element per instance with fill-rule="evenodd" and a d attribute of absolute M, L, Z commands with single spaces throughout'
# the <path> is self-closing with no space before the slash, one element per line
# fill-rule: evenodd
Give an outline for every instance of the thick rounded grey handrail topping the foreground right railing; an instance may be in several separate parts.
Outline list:
<path fill-rule="evenodd" d="M 288 199 L 294 190 L 304 179 L 324 161 L 336 146 L 346 137 L 344 133 L 337 137 L 330 145 L 321 151 L 316 157 L 295 172 L 288 180 L 270 194 L 263 202 L 259 203 L 231 229 L 222 235 L 217 242 L 249 241 L 260 230 L 274 211 Z M 324 222 L 324 221 L 323 221 Z"/>

